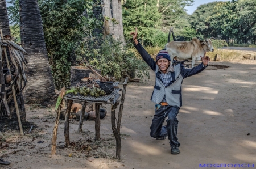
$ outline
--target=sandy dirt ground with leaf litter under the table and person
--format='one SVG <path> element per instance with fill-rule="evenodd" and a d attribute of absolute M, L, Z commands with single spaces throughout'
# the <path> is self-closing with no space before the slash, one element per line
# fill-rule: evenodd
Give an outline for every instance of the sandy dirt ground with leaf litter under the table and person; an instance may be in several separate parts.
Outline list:
<path fill-rule="evenodd" d="M 94 142 L 94 121 L 84 122 L 82 133 L 76 133 L 78 122 L 72 121 L 69 127 L 73 143 L 64 148 L 64 120 L 60 120 L 59 147 L 53 157 L 50 155 L 55 121 L 53 107 L 27 106 L 27 120 L 38 127 L 24 137 L 14 131 L 0 133 L 0 157 L 11 162 L 10 166 L 0 168 L 193 169 L 201 168 L 200 164 L 254 164 L 256 167 L 256 60 L 210 64 L 229 67 L 209 66 L 183 81 L 183 107 L 177 116 L 177 137 L 181 143 L 178 155 L 170 153 L 168 139 L 158 141 L 150 137 L 154 115 L 150 98 L 155 83 L 151 72 L 148 81 L 130 82 L 127 86 L 121 122 L 121 160 L 113 158 L 115 140 L 110 105 L 105 105 L 108 114 L 101 120 L 98 142 Z"/>

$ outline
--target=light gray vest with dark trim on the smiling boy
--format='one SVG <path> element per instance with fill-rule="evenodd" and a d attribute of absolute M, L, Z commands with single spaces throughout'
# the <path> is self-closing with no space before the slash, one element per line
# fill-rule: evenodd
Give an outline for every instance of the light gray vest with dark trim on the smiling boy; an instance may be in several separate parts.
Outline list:
<path fill-rule="evenodd" d="M 156 65 L 155 74 L 159 74 L 159 67 Z M 180 64 L 174 66 L 174 72 L 172 73 L 171 84 L 167 87 L 164 86 L 160 78 L 155 78 L 155 87 L 151 97 L 151 101 L 159 104 L 162 102 L 164 95 L 166 95 L 167 103 L 171 106 L 182 106 L 181 98 L 181 84 L 183 76 L 180 74 Z"/>

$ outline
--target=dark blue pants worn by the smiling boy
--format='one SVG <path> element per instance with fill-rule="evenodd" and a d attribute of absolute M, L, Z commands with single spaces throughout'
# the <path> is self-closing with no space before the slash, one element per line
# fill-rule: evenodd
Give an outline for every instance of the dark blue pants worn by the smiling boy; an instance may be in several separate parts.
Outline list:
<path fill-rule="evenodd" d="M 177 114 L 179 113 L 180 107 L 170 105 L 155 105 L 155 115 L 152 119 L 150 136 L 154 138 L 160 138 L 168 134 L 170 145 L 172 147 L 179 147 L 180 143 L 177 141 Z M 163 126 L 164 119 L 166 120 L 166 126 Z"/>

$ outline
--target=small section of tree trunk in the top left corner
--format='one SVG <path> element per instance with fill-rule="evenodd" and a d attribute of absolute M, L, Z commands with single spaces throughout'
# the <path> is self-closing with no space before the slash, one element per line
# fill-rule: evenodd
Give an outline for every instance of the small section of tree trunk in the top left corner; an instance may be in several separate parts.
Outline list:
<path fill-rule="evenodd" d="M 10 35 L 9 19 L 5 0 L 0 0 L 0 29 L 2 29 L 3 35 Z"/>

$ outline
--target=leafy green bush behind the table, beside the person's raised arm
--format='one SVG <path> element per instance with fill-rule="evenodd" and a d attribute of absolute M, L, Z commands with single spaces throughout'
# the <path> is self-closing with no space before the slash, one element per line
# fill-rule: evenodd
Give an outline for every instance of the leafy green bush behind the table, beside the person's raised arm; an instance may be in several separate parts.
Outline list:
<path fill-rule="evenodd" d="M 102 75 L 109 75 L 118 80 L 135 76 L 141 79 L 149 78 L 148 65 L 136 56 L 133 44 L 129 42 L 123 45 L 121 42 L 107 37 L 102 40 L 100 48 L 92 49 L 89 46 L 84 46 L 83 50 L 86 52 L 81 52 L 81 55 L 77 56 L 77 61 L 86 58 L 90 65 L 101 70 Z M 82 55 L 83 53 L 84 55 Z"/>

